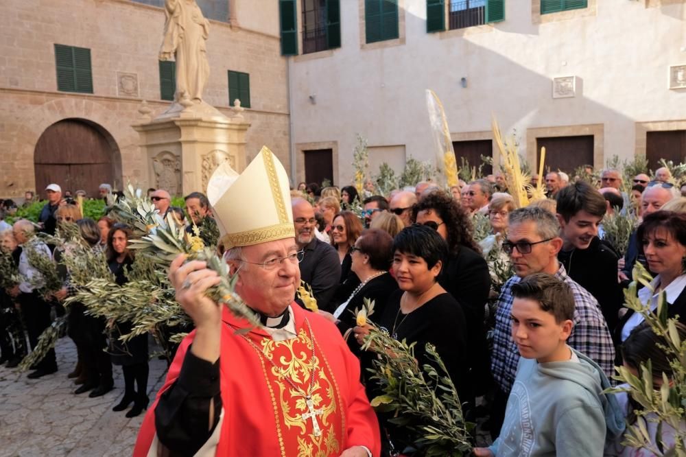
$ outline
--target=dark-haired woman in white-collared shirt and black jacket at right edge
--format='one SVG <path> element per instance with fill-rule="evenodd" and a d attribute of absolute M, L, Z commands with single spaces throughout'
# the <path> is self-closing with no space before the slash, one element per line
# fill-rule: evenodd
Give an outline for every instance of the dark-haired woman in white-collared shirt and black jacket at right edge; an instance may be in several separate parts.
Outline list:
<path fill-rule="evenodd" d="M 639 240 L 639 253 L 646 256 L 648 269 L 657 274 L 650 283 L 654 292 L 650 288 L 639 290 L 641 303 L 657 309 L 657 298 L 665 292 L 667 315 L 674 317 L 678 314 L 679 321 L 686 323 L 686 214 L 673 211 L 650 213 L 639 225 L 636 239 Z M 615 330 L 615 342 L 624 342 L 642 322 L 640 313 L 628 309 Z"/>

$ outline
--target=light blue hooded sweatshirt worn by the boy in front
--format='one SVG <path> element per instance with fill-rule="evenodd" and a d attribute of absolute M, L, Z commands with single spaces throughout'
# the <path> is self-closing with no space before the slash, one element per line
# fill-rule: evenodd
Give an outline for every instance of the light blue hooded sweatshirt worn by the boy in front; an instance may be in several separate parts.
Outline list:
<path fill-rule="evenodd" d="M 489 447 L 495 456 L 611 455 L 606 442 L 624 432 L 624 415 L 614 395 L 602 393 L 610 382 L 598 364 L 572 351 L 578 361 L 519 360 L 500 436 Z"/>

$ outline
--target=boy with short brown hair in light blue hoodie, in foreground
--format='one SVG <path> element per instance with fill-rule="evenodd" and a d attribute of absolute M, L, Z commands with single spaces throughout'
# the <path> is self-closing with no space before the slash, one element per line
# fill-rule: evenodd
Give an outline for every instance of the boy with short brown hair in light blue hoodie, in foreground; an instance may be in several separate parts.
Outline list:
<path fill-rule="evenodd" d="M 567 345 L 574 298 L 546 273 L 512 286 L 512 339 L 521 359 L 500 436 L 476 456 L 602 456 L 606 430 L 621 433 L 616 401 L 600 367 Z M 607 418 L 606 418 L 607 417 Z"/>

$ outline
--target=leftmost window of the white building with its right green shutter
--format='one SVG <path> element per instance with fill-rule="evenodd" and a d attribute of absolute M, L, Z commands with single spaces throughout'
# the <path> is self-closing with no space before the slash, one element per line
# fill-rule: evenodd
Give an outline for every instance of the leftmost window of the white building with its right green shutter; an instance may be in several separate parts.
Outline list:
<path fill-rule="evenodd" d="M 302 1 L 303 54 L 340 47 L 340 0 Z"/>

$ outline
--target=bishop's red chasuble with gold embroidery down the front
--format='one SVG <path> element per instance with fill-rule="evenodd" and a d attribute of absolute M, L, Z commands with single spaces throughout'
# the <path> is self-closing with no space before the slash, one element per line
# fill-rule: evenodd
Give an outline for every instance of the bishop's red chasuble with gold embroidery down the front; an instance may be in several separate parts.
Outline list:
<path fill-rule="evenodd" d="M 264 329 L 253 329 L 246 337 L 255 346 L 235 333 L 246 327 L 245 321 L 224 309 L 220 355 L 224 419 L 216 455 L 340 456 L 345 449 L 362 445 L 378 456 L 379 424 L 359 382 L 359 361 L 328 320 L 295 303 L 292 309 L 297 338 L 275 342 Z M 194 334 L 182 341 L 165 385 L 145 415 L 134 456 L 147 456 L 155 437 L 155 406 L 176 381 Z"/>

